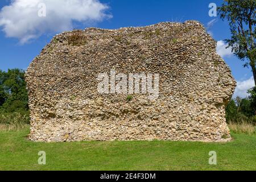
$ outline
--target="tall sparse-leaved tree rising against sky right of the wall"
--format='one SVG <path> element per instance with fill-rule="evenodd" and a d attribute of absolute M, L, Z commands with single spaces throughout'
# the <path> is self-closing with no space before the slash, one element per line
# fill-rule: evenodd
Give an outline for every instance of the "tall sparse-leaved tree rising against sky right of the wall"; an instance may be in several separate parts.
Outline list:
<path fill-rule="evenodd" d="M 231 39 L 226 39 L 228 47 L 238 59 L 246 60 L 244 67 L 251 67 L 256 85 L 256 29 L 255 29 L 255 0 L 225 0 L 218 7 L 221 19 L 227 19 L 232 34 Z"/>

